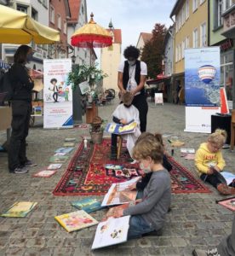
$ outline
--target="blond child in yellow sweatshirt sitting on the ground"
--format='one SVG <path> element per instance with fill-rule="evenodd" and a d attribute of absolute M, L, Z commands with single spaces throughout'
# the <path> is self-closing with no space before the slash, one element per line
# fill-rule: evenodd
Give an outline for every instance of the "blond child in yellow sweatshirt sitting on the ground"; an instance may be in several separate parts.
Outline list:
<path fill-rule="evenodd" d="M 222 183 L 216 172 L 222 172 L 225 164 L 221 148 L 226 142 L 226 131 L 217 129 L 209 135 L 206 143 L 202 143 L 195 154 L 195 166 L 200 178 L 212 184 L 222 195 L 234 195 L 235 189 Z"/>

